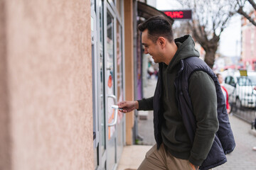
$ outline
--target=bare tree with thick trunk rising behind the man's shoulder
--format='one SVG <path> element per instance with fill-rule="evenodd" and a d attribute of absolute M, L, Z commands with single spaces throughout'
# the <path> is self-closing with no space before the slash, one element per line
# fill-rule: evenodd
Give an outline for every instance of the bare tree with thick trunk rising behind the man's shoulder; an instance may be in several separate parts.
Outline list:
<path fill-rule="evenodd" d="M 188 21 L 193 38 L 206 51 L 205 62 L 213 68 L 220 34 L 236 13 L 235 3 L 226 0 L 183 0 L 183 6 L 193 10 L 193 20 Z"/>

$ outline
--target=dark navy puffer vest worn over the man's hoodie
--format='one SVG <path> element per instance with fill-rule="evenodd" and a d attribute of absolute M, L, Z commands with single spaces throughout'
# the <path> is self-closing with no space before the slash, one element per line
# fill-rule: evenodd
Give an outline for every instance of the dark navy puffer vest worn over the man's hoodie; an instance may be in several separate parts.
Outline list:
<path fill-rule="evenodd" d="M 174 84 L 176 86 L 178 110 L 181 113 L 183 123 L 191 142 L 193 143 L 196 133 L 196 118 L 194 117 L 191 98 L 188 94 L 188 79 L 191 74 L 196 71 L 206 72 L 213 79 L 218 102 L 217 111 L 219 129 L 215 134 L 213 146 L 211 147 L 207 158 L 200 166 L 200 169 L 205 170 L 212 169 L 215 166 L 219 166 L 220 164 L 227 162 L 225 154 L 233 151 L 235 148 L 235 139 L 230 127 L 223 91 L 221 90 L 217 77 L 213 73 L 213 70 L 210 69 L 203 60 L 198 57 L 189 57 L 185 60 L 181 60 L 181 69 L 177 74 Z"/>

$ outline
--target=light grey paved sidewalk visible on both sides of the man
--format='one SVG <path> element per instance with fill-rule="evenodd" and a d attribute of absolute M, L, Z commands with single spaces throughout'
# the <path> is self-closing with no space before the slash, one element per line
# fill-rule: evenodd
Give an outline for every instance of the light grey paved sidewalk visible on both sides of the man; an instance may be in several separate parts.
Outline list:
<path fill-rule="evenodd" d="M 148 96 L 154 94 L 156 80 L 149 79 L 149 86 L 144 91 Z M 153 131 L 153 116 L 152 112 L 149 112 L 147 120 L 139 120 L 138 129 L 139 135 L 144 137 L 143 145 L 154 145 L 154 131 Z M 236 147 L 234 152 L 227 155 L 228 162 L 215 169 L 229 170 L 229 169 L 256 169 L 256 151 L 252 150 L 252 147 L 256 146 L 255 135 L 250 134 L 252 132 L 251 125 L 245 123 L 244 120 L 236 118 L 234 115 L 230 116 L 230 124 L 235 136 Z"/>

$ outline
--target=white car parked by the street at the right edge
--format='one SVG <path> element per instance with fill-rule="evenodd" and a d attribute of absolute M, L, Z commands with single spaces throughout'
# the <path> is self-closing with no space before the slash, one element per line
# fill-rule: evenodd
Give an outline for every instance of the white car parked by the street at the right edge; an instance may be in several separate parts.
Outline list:
<path fill-rule="evenodd" d="M 247 72 L 241 76 L 240 72 L 225 75 L 223 84 L 228 91 L 228 100 L 238 108 L 255 108 L 256 106 L 256 72 Z"/>

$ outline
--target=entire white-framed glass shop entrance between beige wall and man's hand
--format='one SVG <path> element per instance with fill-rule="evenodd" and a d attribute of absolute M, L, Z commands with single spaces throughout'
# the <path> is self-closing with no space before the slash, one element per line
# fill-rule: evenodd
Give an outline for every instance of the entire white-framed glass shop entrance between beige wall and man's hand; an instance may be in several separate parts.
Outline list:
<path fill-rule="evenodd" d="M 92 33 L 97 32 L 92 46 L 95 169 L 115 170 L 125 136 L 124 115 L 112 107 L 124 100 L 122 22 L 114 4 L 107 0 L 96 0 L 92 10 L 97 18 L 96 28 L 92 28 Z"/>

